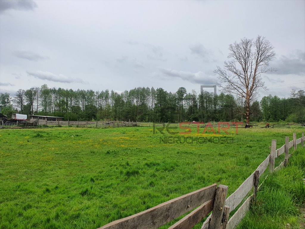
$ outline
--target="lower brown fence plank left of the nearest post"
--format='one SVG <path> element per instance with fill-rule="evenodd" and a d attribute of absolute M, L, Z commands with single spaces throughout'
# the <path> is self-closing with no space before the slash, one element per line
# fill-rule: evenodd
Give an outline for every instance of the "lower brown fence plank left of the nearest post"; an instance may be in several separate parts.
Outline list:
<path fill-rule="evenodd" d="M 183 217 L 177 223 L 169 227 L 168 229 L 188 229 L 193 228 L 198 224 L 207 214 L 213 210 L 214 199 L 203 203 L 201 206 L 196 208 L 194 211 Z"/>

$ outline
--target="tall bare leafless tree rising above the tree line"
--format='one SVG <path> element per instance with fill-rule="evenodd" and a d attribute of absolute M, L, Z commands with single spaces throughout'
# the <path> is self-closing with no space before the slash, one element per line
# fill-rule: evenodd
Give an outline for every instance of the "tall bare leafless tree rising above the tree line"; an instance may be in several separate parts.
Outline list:
<path fill-rule="evenodd" d="M 255 40 L 242 38 L 239 43 L 229 45 L 229 60 L 224 62 L 224 69 L 217 66 L 214 71 L 220 79 L 222 92 L 233 93 L 245 99 L 246 112 L 241 112 L 246 116 L 246 123 L 250 121 L 250 105 L 258 89 L 267 90 L 261 75 L 276 71 L 269 67 L 275 56 L 273 49 L 265 37 L 257 36 Z"/>

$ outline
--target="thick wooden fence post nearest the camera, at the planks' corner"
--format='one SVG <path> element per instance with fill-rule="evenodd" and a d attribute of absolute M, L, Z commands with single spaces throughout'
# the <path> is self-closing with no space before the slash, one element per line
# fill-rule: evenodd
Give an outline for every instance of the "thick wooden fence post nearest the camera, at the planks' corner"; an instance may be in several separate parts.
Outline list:
<path fill-rule="evenodd" d="M 222 216 L 224 213 L 224 203 L 226 202 L 227 192 L 228 186 L 222 184 L 218 185 L 215 194 L 213 212 L 209 229 L 218 229 L 221 227 Z"/>

